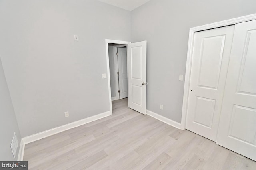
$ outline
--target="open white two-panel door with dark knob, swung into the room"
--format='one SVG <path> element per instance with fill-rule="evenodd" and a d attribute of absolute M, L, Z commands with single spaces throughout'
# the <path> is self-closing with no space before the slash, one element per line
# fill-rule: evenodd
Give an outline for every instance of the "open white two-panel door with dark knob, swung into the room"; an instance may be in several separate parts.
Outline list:
<path fill-rule="evenodd" d="M 130 43 L 128 50 L 128 105 L 146 114 L 147 42 Z"/>

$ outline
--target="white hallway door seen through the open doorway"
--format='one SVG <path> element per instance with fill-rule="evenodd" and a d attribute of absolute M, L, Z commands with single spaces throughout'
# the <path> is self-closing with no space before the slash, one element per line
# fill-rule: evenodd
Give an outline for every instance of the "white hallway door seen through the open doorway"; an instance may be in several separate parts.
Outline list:
<path fill-rule="evenodd" d="M 126 47 L 117 48 L 118 52 L 118 79 L 119 79 L 119 99 L 128 97 L 128 77 L 127 77 L 127 51 Z"/>

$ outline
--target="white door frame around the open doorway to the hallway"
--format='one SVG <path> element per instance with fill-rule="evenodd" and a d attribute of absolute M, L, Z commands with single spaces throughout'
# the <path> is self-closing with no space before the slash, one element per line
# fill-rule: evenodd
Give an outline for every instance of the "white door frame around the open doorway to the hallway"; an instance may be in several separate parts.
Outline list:
<path fill-rule="evenodd" d="M 110 87 L 110 69 L 109 69 L 108 43 L 128 45 L 131 42 L 105 39 L 105 43 L 106 43 L 106 57 L 107 57 L 107 78 L 108 78 L 109 108 L 110 108 L 110 115 L 112 115 L 112 98 L 111 98 L 111 87 Z"/>

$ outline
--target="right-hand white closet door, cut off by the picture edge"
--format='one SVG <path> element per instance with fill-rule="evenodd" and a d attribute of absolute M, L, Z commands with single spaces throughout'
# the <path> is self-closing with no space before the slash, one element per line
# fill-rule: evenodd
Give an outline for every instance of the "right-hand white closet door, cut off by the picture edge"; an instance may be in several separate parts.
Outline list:
<path fill-rule="evenodd" d="M 256 21 L 236 24 L 217 144 L 256 161 Z"/>

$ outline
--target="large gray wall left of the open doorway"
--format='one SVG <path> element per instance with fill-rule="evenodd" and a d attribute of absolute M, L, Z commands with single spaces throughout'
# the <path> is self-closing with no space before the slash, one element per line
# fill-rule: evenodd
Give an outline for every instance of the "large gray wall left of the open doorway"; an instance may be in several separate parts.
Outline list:
<path fill-rule="evenodd" d="M 109 111 L 105 39 L 130 41 L 129 11 L 96 0 L 0 0 L 0 23 L 22 137 Z"/>

